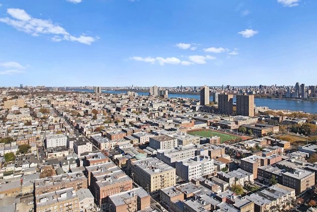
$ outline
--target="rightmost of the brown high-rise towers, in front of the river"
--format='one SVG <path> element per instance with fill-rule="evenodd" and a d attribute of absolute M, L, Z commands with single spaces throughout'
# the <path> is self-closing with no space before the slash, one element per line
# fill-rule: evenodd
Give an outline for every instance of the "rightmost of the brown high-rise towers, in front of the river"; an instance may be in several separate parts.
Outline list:
<path fill-rule="evenodd" d="M 254 116 L 254 95 L 237 95 L 237 115 Z"/>

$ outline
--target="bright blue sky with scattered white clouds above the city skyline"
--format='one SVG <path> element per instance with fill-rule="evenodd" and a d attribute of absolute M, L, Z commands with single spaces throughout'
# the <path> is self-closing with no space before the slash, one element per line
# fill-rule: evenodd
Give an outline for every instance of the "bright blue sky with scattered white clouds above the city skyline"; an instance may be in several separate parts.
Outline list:
<path fill-rule="evenodd" d="M 316 0 L 0 0 L 0 86 L 316 85 Z"/>

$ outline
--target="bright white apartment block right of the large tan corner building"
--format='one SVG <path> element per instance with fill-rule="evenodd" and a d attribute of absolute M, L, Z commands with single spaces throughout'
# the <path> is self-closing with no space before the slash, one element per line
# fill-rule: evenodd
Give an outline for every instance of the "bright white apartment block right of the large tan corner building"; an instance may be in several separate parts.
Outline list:
<path fill-rule="evenodd" d="M 178 160 L 175 162 L 176 174 L 184 180 L 200 178 L 214 173 L 213 159 L 209 156 L 198 155 L 196 157 Z"/>

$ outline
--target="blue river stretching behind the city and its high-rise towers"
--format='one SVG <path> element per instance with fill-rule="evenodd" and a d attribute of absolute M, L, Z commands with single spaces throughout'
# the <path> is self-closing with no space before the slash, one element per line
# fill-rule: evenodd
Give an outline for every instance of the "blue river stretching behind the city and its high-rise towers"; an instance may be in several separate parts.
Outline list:
<path fill-rule="evenodd" d="M 93 90 L 84 90 L 84 89 L 68 89 L 68 91 L 81 91 L 81 92 L 94 92 Z M 103 93 L 126 93 L 123 91 L 102 91 Z M 149 95 L 148 92 L 137 92 L 138 95 Z M 200 99 L 200 95 L 195 94 L 174 94 L 169 93 L 169 98 L 191 98 L 191 99 Z M 210 97 L 212 101 L 212 96 Z M 235 97 L 233 98 L 235 101 Z M 290 111 L 303 111 L 308 113 L 317 113 L 317 101 L 300 101 L 294 99 L 275 99 L 275 98 L 255 98 L 254 103 L 256 106 L 265 106 L 272 110 L 290 110 Z"/>

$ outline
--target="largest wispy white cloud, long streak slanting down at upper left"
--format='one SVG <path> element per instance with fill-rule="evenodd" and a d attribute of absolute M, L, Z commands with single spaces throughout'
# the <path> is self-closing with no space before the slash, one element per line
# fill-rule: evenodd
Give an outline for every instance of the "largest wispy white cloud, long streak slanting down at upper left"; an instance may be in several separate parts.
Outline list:
<path fill-rule="evenodd" d="M 51 37 L 51 40 L 55 42 L 68 40 L 87 45 L 90 45 L 98 39 L 85 35 L 75 37 L 51 20 L 32 18 L 23 9 L 9 8 L 7 9 L 7 13 L 14 19 L 8 17 L 0 18 L 0 22 L 6 23 L 19 31 L 31 34 L 32 36 L 52 35 L 53 37 Z M 58 35 L 62 37 L 59 37 Z"/>

